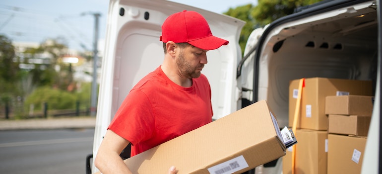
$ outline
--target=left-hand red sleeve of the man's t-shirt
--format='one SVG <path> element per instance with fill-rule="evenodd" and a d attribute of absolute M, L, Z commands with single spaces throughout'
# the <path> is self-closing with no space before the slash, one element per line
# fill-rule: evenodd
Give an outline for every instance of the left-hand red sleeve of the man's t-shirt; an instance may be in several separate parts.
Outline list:
<path fill-rule="evenodd" d="M 152 136 L 154 116 L 151 103 L 139 89 L 129 92 L 108 129 L 128 140 L 132 145 Z"/>

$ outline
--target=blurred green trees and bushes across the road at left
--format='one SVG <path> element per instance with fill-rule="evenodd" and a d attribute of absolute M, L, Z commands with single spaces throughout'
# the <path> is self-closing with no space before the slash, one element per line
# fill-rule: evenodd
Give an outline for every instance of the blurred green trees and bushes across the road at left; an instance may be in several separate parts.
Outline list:
<path fill-rule="evenodd" d="M 59 61 L 66 53 L 65 41 L 57 38 L 16 54 L 12 42 L 0 35 L 0 111 L 12 110 L 19 117 L 31 105 L 41 110 L 44 102 L 50 109 L 73 109 L 76 101 L 83 103 L 82 108 L 89 107 L 90 85 L 77 92 L 71 65 Z"/>

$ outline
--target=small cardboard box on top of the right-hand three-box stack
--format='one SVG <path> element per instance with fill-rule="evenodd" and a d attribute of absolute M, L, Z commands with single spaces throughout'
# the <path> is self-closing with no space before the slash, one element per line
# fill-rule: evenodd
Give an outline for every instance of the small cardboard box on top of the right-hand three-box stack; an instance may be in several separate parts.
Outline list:
<path fill-rule="evenodd" d="M 372 116 L 373 96 L 326 96 L 325 114 Z"/>

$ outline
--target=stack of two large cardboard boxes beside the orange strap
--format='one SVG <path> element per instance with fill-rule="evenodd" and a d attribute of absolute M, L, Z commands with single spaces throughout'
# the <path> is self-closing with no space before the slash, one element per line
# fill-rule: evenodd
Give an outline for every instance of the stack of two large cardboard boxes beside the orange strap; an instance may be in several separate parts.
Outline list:
<path fill-rule="evenodd" d="M 289 86 L 289 127 L 292 127 L 300 79 Z M 295 152 L 295 174 L 326 174 L 328 169 L 328 116 L 325 99 L 330 95 L 372 95 L 371 81 L 308 78 L 301 96 L 298 115 L 298 144 Z M 283 174 L 292 172 L 292 151 L 283 157 Z"/>

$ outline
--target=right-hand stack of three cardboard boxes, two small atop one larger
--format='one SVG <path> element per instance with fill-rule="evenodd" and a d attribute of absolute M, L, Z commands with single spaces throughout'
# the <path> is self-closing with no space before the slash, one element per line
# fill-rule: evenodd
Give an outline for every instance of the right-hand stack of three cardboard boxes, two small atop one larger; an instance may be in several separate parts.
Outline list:
<path fill-rule="evenodd" d="M 327 96 L 328 174 L 360 174 L 366 146 L 373 97 L 361 95 Z"/>

